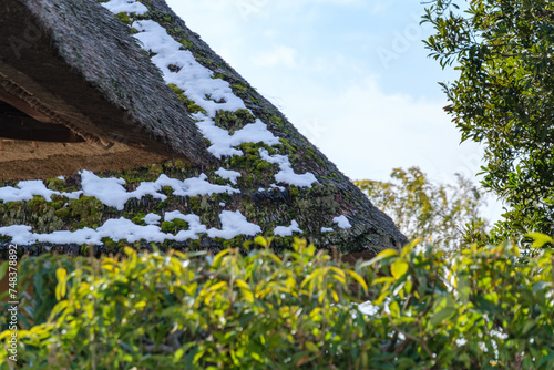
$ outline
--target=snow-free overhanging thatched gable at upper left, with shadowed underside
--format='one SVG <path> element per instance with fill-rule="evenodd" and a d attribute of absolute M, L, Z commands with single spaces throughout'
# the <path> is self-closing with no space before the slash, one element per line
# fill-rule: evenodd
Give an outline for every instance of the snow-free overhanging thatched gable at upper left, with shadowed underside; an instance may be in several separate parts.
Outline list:
<path fill-rule="evenodd" d="M 182 102 L 129 28 L 96 1 L 2 4 L 0 99 L 34 119 L 35 129 L 43 127 L 28 140 L 41 141 L 47 132 L 55 137 L 58 131 L 76 136 L 66 142 L 123 142 L 206 161 L 202 136 Z M 1 124 L 0 136 L 24 138 L 9 132 L 6 120 Z"/>

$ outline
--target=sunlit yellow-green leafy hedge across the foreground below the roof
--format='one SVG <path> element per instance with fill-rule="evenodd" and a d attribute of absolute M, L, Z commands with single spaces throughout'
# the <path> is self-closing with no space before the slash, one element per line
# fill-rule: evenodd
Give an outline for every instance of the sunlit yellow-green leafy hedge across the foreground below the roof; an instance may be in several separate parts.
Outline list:
<path fill-rule="evenodd" d="M 35 298 L 20 305 L 18 366 L 552 369 L 554 255 L 535 238 L 533 257 L 504 244 L 447 258 L 413 243 L 356 266 L 299 240 L 279 256 L 24 258 Z"/>

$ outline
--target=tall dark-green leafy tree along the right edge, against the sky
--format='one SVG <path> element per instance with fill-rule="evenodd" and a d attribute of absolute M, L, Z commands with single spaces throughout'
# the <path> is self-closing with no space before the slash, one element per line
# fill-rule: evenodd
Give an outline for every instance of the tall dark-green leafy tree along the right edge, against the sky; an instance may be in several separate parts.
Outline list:
<path fill-rule="evenodd" d="M 442 68 L 441 84 L 462 140 L 485 147 L 482 185 L 510 210 L 504 236 L 554 234 L 554 2 L 431 0 L 425 40 Z M 464 11 L 461 11 L 461 7 Z"/>

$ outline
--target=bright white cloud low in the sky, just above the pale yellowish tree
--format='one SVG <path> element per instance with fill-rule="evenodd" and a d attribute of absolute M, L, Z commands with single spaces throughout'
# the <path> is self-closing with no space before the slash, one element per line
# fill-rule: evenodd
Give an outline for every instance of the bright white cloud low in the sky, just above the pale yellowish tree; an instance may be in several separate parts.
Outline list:
<path fill-rule="evenodd" d="M 430 175 L 453 174 L 476 145 L 459 145 L 442 101 L 386 94 L 373 78 L 339 91 L 312 85 L 284 97 L 289 117 L 347 175 L 382 179 L 393 167 L 419 165 Z M 317 126 L 306 126 L 317 122 Z M 471 169 L 479 169 L 471 168 Z"/>

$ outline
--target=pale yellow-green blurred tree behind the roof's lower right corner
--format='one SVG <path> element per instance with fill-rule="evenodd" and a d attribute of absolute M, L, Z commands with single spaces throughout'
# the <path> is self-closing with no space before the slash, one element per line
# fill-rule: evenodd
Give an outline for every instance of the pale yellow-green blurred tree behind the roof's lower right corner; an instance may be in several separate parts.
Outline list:
<path fill-rule="evenodd" d="M 390 182 L 355 183 L 408 239 L 431 237 L 441 246 L 454 247 L 484 238 L 486 223 L 479 217 L 484 199 L 469 179 L 456 174 L 455 185 L 437 185 L 418 167 L 394 168 L 390 176 Z"/>

